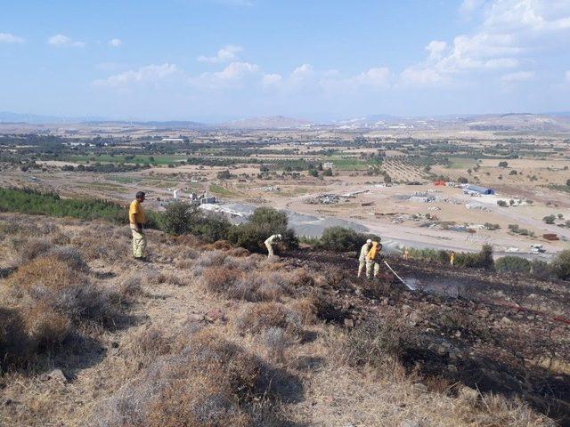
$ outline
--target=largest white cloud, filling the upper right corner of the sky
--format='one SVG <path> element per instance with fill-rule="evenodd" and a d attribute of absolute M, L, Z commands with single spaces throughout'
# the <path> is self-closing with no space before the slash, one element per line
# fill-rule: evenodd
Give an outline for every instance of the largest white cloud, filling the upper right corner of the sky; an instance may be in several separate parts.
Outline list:
<path fill-rule="evenodd" d="M 403 70 L 404 85 L 441 85 L 456 75 L 468 82 L 474 72 L 517 68 L 527 57 L 549 46 L 564 49 L 570 37 L 567 0 L 465 0 L 460 12 L 481 11 L 482 21 L 471 34 L 444 42 L 432 41 L 428 58 Z M 515 73 L 509 73 L 514 75 Z"/>

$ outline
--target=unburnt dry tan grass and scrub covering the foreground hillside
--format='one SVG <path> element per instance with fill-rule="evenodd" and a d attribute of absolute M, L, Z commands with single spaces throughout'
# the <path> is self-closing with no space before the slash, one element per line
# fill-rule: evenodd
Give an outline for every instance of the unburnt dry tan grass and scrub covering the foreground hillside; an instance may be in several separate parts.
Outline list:
<path fill-rule="evenodd" d="M 379 319 L 353 330 L 320 321 L 342 321 L 352 310 L 352 297 L 327 292 L 350 285 L 338 268 L 299 269 L 153 231 L 159 260 L 134 270 L 128 230 L 100 225 L 0 214 L 0 262 L 20 265 L 0 281 L 2 368 L 37 369 L 43 360 L 77 375 L 59 384 L 11 369 L 2 394 L 18 403 L 0 405 L 3 425 L 554 426 L 517 399 L 421 376 L 403 357 L 421 348 L 419 328 L 397 305 L 373 307 Z M 142 322 L 111 327 L 134 299 L 144 302 L 136 312 Z M 202 329 L 199 318 L 212 307 L 229 323 Z M 449 334 L 485 332 L 453 312 L 424 314 Z M 97 350 L 70 347 L 78 334 Z"/>

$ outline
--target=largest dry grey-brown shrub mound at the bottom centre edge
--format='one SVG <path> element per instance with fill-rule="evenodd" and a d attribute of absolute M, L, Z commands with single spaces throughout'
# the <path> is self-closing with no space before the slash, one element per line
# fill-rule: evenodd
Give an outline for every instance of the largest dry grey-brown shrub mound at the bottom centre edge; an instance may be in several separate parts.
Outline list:
<path fill-rule="evenodd" d="M 156 360 L 94 410 L 97 427 L 284 425 L 271 407 L 270 370 L 255 356 L 202 330 L 177 354 Z"/>

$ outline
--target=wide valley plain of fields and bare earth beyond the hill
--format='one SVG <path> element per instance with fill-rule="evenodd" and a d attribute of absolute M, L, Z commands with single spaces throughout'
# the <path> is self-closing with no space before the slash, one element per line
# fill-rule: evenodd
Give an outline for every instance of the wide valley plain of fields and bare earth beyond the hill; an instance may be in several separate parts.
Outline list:
<path fill-rule="evenodd" d="M 0 182 L 121 203 L 143 189 L 158 210 L 172 200 L 174 189 L 183 200 L 209 193 L 222 205 L 238 202 L 245 210 L 271 205 L 308 215 L 314 220 L 306 221 L 315 224 L 345 221 L 378 232 L 394 251 L 403 246 L 465 251 L 491 243 L 498 253 L 535 256 L 530 247 L 539 244 L 546 249 L 540 256 L 549 259 L 570 238 L 570 149 L 558 134 L 474 133 L 463 139 L 439 131 L 409 138 L 379 131 L 281 130 L 194 132 L 183 143 L 149 144 L 159 135 L 149 138 L 118 134 L 114 143 L 99 147 L 62 146 L 58 160 L 38 147 L 31 167 L 21 166 L 25 155 L 18 157 L 20 164 L 16 158 L 4 163 Z M 11 148 L 12 157 L 24 152 L 18 147 L 28 146 L 20 141 Z M 323 167 L 330 164 L 330 170 Z M 100 172 L 103 167 L 109 169 Z M 496 194 L 463 194 L 461 182 Z M 421 203 L 414 195 L 433 200 Z M 552 215 L 554 221 L 546 223 Z M 558 240 L 542 238 L 548 233 Z"/>

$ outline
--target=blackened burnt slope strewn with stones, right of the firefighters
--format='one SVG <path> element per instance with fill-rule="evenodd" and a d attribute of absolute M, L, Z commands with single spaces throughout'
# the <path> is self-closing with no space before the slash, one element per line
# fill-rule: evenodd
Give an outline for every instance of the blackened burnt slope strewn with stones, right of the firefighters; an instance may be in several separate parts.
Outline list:
<path fill-rule="evenodd" d="M 485 270 L 436 262 L 389 259 L 400 276 L 454 280 L 458 297 L 411 292 L 388 270 L 379 280 L 356 278 L 358 261 L 346 254 L 297 250 L 283 257 L 290 268 L 322 274 L 318 286 L 299 289 L 316 295 L 320 315 L 358 326 L 387 311 L 407 318 L 417 344 L 403 363 L 428 377 L 463 383 L 482 392 L 525 399 L 535 409 L 570 426 L 570 288 Z M 550 359 L 561 368 L 549 369 Z"/>

